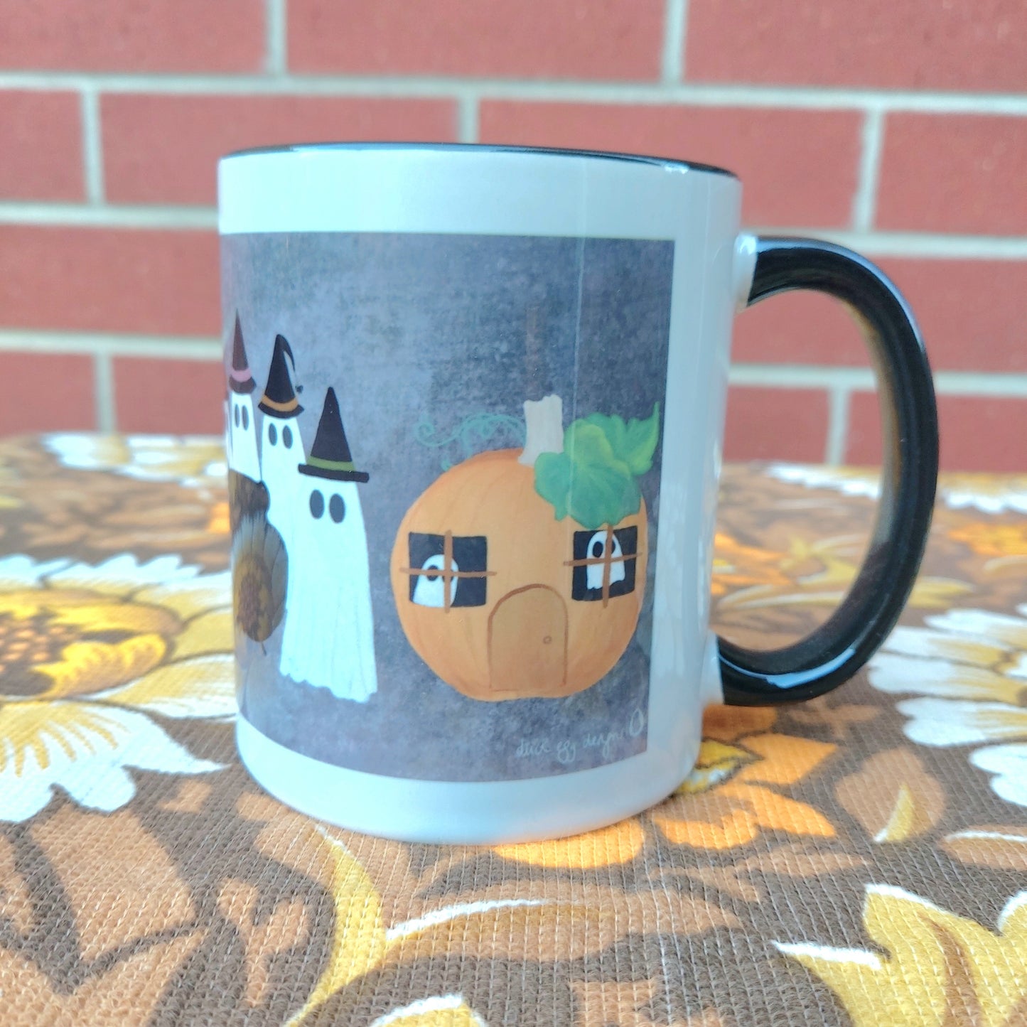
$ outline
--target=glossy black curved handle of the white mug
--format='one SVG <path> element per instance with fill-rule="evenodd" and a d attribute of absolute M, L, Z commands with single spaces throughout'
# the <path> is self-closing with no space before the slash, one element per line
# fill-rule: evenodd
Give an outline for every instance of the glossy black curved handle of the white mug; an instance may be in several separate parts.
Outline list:
<path fill-rule="evenodd" d="M 837 297 L 863 328 L 881 397 L 881 496 L 859 576 L 824 624 L 781 649 L 747 649 L 717 640 L 724 701 L 732 706 L 813 698 L 863 667 L 906 605 L 935 502 L 935 388 L 906 301 L 877 267 L 850 250 L 816 239 L 758 238 L 749 304 L 792 289 Z"/>

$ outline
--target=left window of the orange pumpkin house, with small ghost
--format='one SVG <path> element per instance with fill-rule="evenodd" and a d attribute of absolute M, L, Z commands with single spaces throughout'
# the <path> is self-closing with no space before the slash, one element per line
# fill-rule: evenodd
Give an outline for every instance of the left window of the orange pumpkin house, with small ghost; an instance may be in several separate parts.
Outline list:
<path fill-rule="evenodd" d="M 412 531 L 409 539 L 410 601 L 449 609 L 484 606 L 488 547 L 484 535 L 433 535 Z"/>

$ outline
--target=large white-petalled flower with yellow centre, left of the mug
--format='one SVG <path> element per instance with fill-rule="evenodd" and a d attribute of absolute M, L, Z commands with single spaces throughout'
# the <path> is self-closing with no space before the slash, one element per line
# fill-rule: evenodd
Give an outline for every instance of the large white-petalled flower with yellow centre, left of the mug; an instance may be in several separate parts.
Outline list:
<path fill-rule="evenodd" d="M 154 718 L 234 716 L 230 595 L 227 572 L 172 556 L 0 560 L 0 820 L 28 820 L 59 788 L 118 809 L 129 769 L 220 769 Z"/>

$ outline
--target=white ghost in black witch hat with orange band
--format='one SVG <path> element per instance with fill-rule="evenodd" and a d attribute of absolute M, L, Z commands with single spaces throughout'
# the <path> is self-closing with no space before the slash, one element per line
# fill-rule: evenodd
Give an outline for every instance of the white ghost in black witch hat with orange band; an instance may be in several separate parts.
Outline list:
<path fill-rule="evenodd" d="M 306 460 L 299 421 L 303 408 L 296 396 L 298 389 L 293 384 L 295 373 L 292 346 L 283 335 L 277 335 L 267 385 L 259 405 L 264 414 L 260 458 L 261 474 L 270 503 L 267 519 L 281 535 L 290 559 L 293 556 L 295 528 L 293 493 L 297 486 L 296 468 Z"/>

